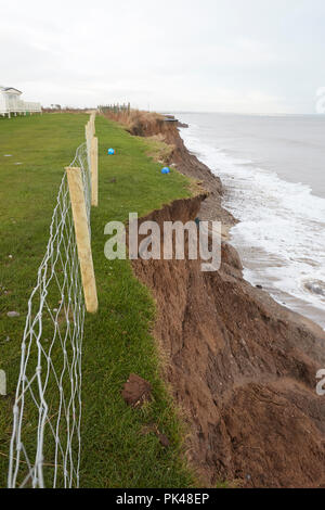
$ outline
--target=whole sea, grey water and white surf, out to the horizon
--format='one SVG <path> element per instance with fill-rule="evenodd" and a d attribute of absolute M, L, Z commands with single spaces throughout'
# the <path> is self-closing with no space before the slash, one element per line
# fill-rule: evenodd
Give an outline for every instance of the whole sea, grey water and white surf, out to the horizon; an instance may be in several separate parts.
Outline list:
<path fill-rule="evenodd" d="M 325 329 L 325 115 L 176 116 L 239 220 L 244 278 Z"/>

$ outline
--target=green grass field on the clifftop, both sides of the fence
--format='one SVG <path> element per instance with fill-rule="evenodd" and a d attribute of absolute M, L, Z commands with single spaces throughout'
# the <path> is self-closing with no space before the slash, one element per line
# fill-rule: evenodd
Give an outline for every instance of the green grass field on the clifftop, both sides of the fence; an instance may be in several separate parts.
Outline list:
<path fill-rule="evenodd" d="M 0 486 L 6 484 L 12 403 L 27 299 L 44 254 L 64 167 L 83 141 L 87 115 L 48 114 L 0 119 L 0 369 L 8 377 L 0 396 Z M 187 487 L 193 476 L 184 462 L 184 431 L 159 375 L 151 328 L 155 307 L 148 291 L 132 276 L 128 260 L 104 256 L 104 226 L 142 216 L 164 203 L 190 196 L 190 183 L 147 156 L 150 142 L 120 126 L 96 118 L 100 146 L 99 207 L 92 209 L 92 250 L 100 309 L 87 316 L 82 354 L 82 487 Z M 108 146 L 116 149 L 113 157 Z M 4 154 L 12 154 L 5 157 Z M 22 163 L 15 165 L 15 163 Z M 9 310 L 21 314 L 8 318 Z M 6 341 L 6 339 L 10 341 Z M 122 384 L 135 372 L 153 385 L 154 400 L 128 407 Z M 164 448 L 155 423 L 168 436 Z M 49 459 L 50 460 L 50 459 Z"/>

